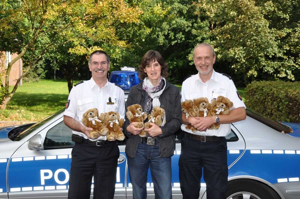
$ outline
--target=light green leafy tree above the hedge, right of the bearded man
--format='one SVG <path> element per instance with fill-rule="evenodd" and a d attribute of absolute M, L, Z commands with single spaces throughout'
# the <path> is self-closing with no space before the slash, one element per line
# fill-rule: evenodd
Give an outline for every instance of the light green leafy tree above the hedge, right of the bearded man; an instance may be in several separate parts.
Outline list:
<path fill-rule="evenodd" d="M 211 17 L 209 36 L 215 37 L 212 44 L 219 60 L 231 62 L 236 72 L 243 73 L 245 85 L 250 82 L 249 77 L 254 80 L 259 72 L 294 79 L 292 70 L 297 66 L 293 57 L 286 54 L 286 46 L 280 44 L 286 33 L 272 27 L 265 17 L 267 10 L 273 9 L 273 16 L 278 11 L 271 4 L 268 1 L 259 5 L 253 0 L 198 3 L 199 9 L 205 9 Z"/>

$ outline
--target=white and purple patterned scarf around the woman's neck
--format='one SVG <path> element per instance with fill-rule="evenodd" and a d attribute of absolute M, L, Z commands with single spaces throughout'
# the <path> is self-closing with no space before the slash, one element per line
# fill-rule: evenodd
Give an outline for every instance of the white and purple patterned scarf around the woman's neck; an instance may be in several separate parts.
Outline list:
<path fill-rule="evenodd" d="M 161 80 L 157 86 L 153 86 L 150 82 L 149 78 L 146 77 L 143 81 L 143 90 L 147 92 L 146 99 L 146 111 L 150 113 L 152 111 L 152 107 L 160 106 L 161 102 L 159 101 L 159 97 L 166 88 L 166 79 L 161 76 Z"/>

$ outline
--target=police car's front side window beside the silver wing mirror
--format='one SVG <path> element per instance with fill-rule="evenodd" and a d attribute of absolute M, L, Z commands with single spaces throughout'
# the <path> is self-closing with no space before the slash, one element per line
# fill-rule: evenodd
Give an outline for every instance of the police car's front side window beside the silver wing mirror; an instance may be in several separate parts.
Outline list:
<path fill-rule="evenodd" d="M 71 148 L 74 144 L 71 136 L 72 130 L 61 121 L 47 132 L 44 149 Z"/>

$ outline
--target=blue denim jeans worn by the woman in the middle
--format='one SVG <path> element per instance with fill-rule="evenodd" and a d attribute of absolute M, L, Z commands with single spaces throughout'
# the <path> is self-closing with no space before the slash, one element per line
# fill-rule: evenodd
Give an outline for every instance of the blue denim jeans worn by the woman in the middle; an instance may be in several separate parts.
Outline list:
<path fill-rule="evenodd" d="M 147 198 L 147 174 L 150 166 L 155 199 L 172 198 L 171 157 L 161 158 L 158 145 L 139 142 L 134 158 L 127 157 L 133 199 Z"/>

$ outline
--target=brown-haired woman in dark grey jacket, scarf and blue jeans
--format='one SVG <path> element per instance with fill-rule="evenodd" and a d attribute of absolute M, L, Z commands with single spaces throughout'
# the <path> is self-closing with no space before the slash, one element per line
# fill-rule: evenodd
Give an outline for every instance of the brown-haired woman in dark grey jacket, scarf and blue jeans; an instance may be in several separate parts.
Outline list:
<path fill-rule="evenodd" d="M 175 150 L 174 133 L 181 125 L 181 102 L 179 88 L 167 81 L 168 64 L 157 51 L 148 51 L 142 60 L 139 85 L 132 87 L 126 102 L 127 107 L 140 104 L 149 114 L 155 106 L 165 110 L 164 126 L 154 123 L 149 129 L 135 128 L 125 115 L 125 134 L 128 137 L 125 153 L 134 199 L 147 198 L 147 173 L 150 166 L 155 198 L 172 198 L 171 156 Z M 144 121 L 144 123 L 147 120 Z M 137 135 L 142 129 L 145 138 Z M 152 142 L 147 142 L 151 140 Z M 153 144 L 153 145 L 150 145 Z"/>

